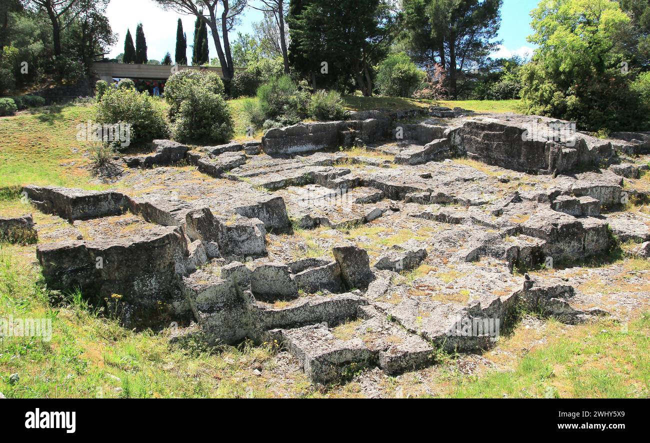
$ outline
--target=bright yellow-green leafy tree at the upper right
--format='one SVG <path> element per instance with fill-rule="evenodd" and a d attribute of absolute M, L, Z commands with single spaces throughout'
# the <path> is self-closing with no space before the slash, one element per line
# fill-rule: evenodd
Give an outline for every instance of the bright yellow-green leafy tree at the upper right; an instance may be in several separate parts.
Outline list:
<path fill-rule="evenodd" d="M 616 1 L 543 2 L 531 16 L 528 41 L 539 47 L 521 68 L 528 112 L 577 121 L 589 131 L 642 126 L 640 97 L 630 90 L 636 73 L 621 64 L 634 36 Z"/>

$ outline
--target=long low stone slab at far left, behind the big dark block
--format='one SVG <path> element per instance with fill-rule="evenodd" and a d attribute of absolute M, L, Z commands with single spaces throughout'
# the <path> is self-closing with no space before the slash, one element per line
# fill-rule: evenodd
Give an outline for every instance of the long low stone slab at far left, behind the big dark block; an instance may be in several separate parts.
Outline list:
<path fill-rule="evenodd" d="M 23 192 L 38 210 L 68 221 L 122 214 L 127 207 L 127 197 L 119 192 L 33 185 Z"/>

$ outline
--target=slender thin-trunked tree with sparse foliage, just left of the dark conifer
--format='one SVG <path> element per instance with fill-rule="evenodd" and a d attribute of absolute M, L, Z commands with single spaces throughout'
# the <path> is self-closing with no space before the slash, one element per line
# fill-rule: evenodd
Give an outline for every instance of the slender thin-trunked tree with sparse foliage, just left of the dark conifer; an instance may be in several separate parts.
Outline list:
<path fill-rule="evenodd" d="M 288 3 L 287 0 L 259 0 L 259 5 L 250 6 L 264 13 L 264 20 L 257 25 L 255 32 L 262 34 L 264 39 L 260 38 L 260 42 L 268 45 L 265 48 L 267 51 L 277 51 L 282 56 L 285 74 L 289 73 L 289 54 L 287 52 L 289 36 L 285 30 L 285 11 Z"/>

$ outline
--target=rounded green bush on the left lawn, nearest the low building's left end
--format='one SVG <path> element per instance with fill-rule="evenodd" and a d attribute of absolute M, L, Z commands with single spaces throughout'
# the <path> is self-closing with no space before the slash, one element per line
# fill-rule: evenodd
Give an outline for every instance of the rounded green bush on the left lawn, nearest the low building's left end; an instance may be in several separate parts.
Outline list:
<path fill-rule="evenodd" d="M 131 88 L 109 88 L 97 104 L 98 123 L 129 123 L 131 142 L 166 138 L 169 129 L 159 104 L 147 92 Z"/>

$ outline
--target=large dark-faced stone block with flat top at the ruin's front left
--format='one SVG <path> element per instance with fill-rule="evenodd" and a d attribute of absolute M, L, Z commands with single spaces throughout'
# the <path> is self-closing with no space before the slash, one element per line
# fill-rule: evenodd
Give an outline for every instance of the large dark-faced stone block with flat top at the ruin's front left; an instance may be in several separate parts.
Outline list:
<path fill-rule="evenodd" d="M 80 288 L 98 306 L 115 306 L 122 322 L 143 327 L 169 311 L 174 276 L 185 272 L 187 242 L 179 227 L 151 227 L 131 238 L 40 244 L 36 257 L 50 288 Z"/>

